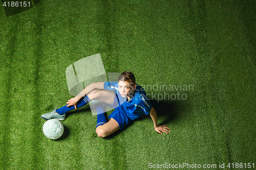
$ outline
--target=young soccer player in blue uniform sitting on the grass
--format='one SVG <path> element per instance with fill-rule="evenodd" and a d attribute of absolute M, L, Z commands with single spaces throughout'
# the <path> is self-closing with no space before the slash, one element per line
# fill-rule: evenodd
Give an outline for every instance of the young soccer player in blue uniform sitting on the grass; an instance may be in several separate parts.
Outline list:
<path fill-rule="evenodd" d="M 133 120 L 142 114 L 150 114 L 155 130 L 170 132 L 166 125 L 157 124 L 157 114 L 150 102 L 147 100 L 144 89 L 135 83 L 135 77 L 130 71 L 124 71 L 117 82 L 92 83 L 82 90 L 75 98 L 68 100 L 67 105 L 55 109 L 50 113 L 42 114 L 41 117 L 48 120 L 57 118 L 65 120 L 66 113 L 89 103 L 91 100 L 101 101 L 115 110 L 109 115 L 108 121 L 105 117 L 104 105 L 96 104 L 97 125 L 96 133 L 99 137 L 106 137 L 118 129 L 123 130 Z"/>

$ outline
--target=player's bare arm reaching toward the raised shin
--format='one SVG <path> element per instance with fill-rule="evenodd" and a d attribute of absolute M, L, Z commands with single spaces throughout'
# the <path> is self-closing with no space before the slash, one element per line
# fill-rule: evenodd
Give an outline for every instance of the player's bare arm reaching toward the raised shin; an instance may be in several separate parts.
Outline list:
<path fill-rule="evenodd" d="M 75 105 L 76 108 L 76 103 L 83 97 L 86 96 L 87 94 L 89 94 L 90 92 L 92 92 L 94 89 L 104 89 L 104 82 L 98 82 L 98 83 L 92 83 L 89 86 L 87 86 L 86 88 L 84 88 L 79 94 L 77 94 L 77 96 L 75 96 L 75 98 L 71 98 L 68 102 L 67 102 L 67 107 Z"/>

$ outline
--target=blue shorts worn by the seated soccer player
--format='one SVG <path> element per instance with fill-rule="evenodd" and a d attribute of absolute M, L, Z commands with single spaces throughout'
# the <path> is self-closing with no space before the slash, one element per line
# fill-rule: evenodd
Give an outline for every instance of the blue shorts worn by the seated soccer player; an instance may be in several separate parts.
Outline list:
<path fill-rule="evenodd" d="M 121 110 L 121 105 L 118 99 L 118 95 L 116 94 L 113 105 L 108 105 L 109 107 L 114 108 L 115 110 L 109 115 L 109 118 L 113 118 L 119 125 L 121 130 L 125 129 L 125 127 L 132 123 L 133 121 Z"/>

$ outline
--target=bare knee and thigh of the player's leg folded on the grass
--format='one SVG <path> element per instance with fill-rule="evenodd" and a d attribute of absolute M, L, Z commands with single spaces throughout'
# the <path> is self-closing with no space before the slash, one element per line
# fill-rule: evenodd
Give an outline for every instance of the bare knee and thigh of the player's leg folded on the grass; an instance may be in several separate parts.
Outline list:
<path fill-rule="evenodd" d="M 115 119 L 111 118 L 109 122 L 96 128 L 96 133 L 99 137 L 106 137 L 119 129 L 119 124 Z"/>

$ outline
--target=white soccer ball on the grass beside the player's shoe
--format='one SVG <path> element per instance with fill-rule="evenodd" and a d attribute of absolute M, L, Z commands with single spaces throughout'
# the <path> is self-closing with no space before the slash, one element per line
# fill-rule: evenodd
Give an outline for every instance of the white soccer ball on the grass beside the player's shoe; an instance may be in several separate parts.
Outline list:
<path fill-rule="evenodd" d="M 42 132 L 49 139 L 55 140 L 63 134 L 64 127 L 58 119 L 54 118 L 45 122 L 44 126 L 42 126 Z"/>

